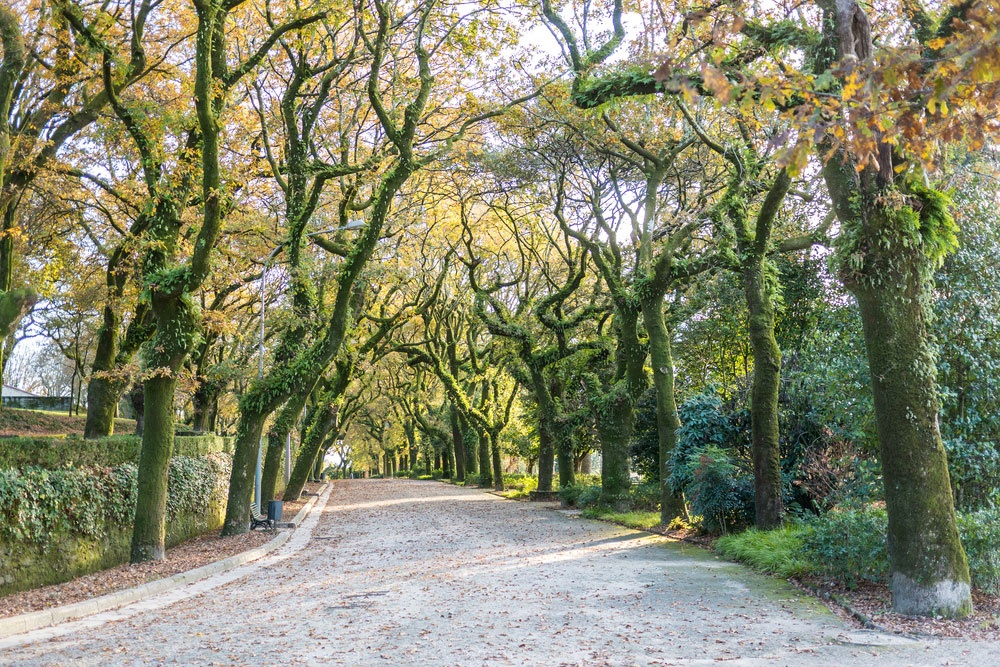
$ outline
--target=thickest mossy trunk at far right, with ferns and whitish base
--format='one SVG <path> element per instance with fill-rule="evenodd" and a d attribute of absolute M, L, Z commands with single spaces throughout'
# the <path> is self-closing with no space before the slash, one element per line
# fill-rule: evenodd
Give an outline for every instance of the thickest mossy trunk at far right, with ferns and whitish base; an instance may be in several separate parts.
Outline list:
<path fill-rule="evenodd" d="M 836 67 L 838 59 L 871 61 L 865 10 L 855 0 L 821 7 L 817 71 Z M 829 152 L 828 145 L 819 149 L 824 157 Z M 972 610 L 969 567 L 938 426 L 929 328 L 933 269 L 955 242 L 951 202 L 909 174 L 915 167 L 889 144 L 877 142 L 873 158 L 855 168 L 850 155 L 837 151 L 823 177 L 842 226 L 841 279 L 858 301 L 865 334 L 889 516 L 892 606 L 904 614 L 963 617 Z"/>

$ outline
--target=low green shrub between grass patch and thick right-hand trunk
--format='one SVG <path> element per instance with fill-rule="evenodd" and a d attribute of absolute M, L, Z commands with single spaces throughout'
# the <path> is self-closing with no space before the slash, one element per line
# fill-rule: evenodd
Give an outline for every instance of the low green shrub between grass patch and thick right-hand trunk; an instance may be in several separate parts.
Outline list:
<path fill-rule="evenodd" d="M 880 505 L 834 509 L 811 522 L 803 547 L 817 572 L 849 588 L 882 583 L 889 572 L 888 518 Z"/>

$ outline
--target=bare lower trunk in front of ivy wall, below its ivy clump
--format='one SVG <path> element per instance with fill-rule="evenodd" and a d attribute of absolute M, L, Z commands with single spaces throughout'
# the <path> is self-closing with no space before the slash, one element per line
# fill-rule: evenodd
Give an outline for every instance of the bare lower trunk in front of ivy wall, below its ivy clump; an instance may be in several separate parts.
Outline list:
<path fill-rule="evenodd" d="M 156 375 L 146 380 L 145 430 L 139 455 L 135 525 L 132 529 L 131 562 L 163 560 L 167 515 L 167 474 L 174 448 L 174 389 L 177 380 Z"/>

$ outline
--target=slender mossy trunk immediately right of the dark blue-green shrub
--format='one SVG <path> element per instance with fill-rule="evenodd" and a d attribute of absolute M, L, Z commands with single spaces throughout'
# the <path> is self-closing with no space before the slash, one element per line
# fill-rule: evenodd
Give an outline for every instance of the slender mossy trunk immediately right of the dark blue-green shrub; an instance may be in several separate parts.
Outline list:
<path fill-rule="evenodd" d="M 753 349 L 753 389 L 750 421 L 753 452 L 755 524 L 760 530 L 781 525 L 781 448 L 778 430 L 778 389 L 781 350 L 774 337 L 774 305 L 764 278 L 764 259 L 747 261 L 744 293 Z"/>

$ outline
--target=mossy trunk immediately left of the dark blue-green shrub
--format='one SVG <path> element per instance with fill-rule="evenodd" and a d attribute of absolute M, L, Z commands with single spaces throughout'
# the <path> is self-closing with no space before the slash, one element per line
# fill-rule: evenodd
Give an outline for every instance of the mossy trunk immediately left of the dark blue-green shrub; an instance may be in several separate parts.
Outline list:
<path fill-rule="evenodd" d="M 660 522 L 669 524 L 675 517 L 687 515 L 684 500 L 670 488 L 670 457 L 677 444 L 677 416 L 674 397 L 674 360 L 670 349 L 670 332 L 663 318 L 663 294 L 656 292 L 642 304 L 642 319 L 649 335 L 649 358 L 653 366 L 653 386 L 656 388 L 656 436 L 659 443 Z"/>

